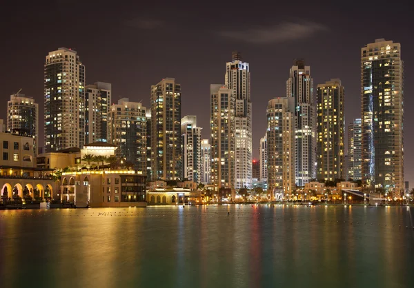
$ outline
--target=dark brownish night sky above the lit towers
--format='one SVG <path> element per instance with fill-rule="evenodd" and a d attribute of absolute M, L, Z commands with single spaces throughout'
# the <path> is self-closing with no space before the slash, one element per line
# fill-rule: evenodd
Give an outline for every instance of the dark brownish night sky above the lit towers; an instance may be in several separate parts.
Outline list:
<path fill-rule="evenodd" d="M 76 50 L 86 84 L 112 83 L 118 97 L 150 103 L 150 85 L 173 77 L 181 83 L 182 116 L 197 115 L 209 134 L 210 83 L 224 83 L 232 50 L 250 63 L 253 150 L 266 132 L 266 105 L 286 96 L 293 60 L 311 65 L 314 89 L 339 78 L 345 87 L 346 123 L 360 117 L 360 51 L 384 38 L 400 42 L 404 60 L 405 180 L 414 185 L 414 49 L 411 10 L 400 1 L 31 1 L 0 11 L 0 116 L 23 88 L 39 103 L 43 122 L 43 64 L 49 51 Z M 320 1 L 318 1 L 320 3 Z M 333 3 L 335 2 L 335 3 Z M 374 4 L 375 3 L 375 4 Z M 319 6 L 317 6 L 319 5 Z M 4 9 L 3 9 L 4 8 Z M 1 115 L 0 114 L 0 115 Z M 43 145 L 43 132 L 40 135 Z"/>

